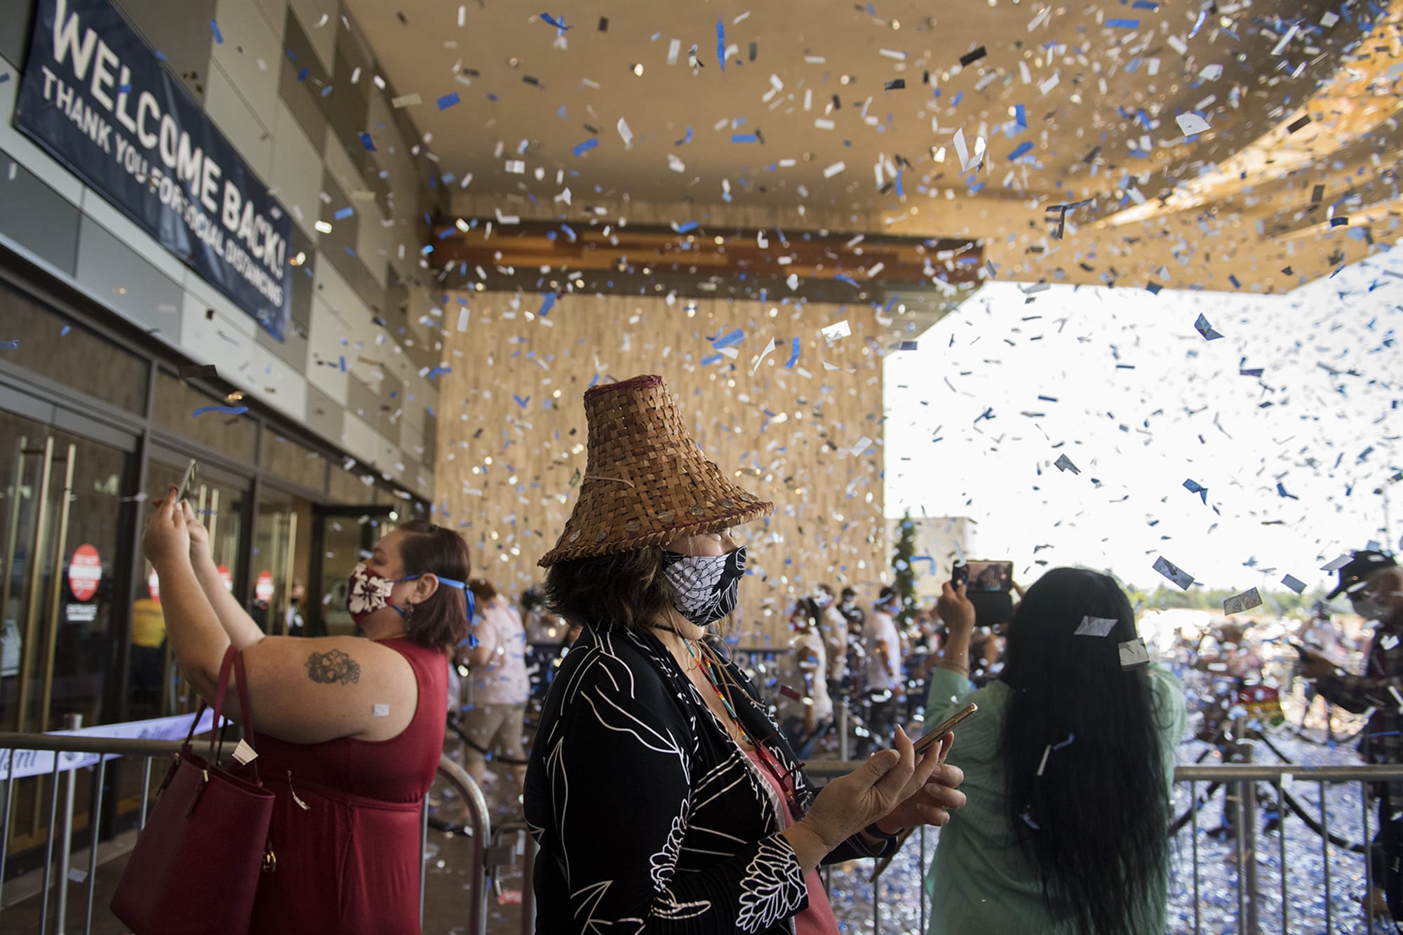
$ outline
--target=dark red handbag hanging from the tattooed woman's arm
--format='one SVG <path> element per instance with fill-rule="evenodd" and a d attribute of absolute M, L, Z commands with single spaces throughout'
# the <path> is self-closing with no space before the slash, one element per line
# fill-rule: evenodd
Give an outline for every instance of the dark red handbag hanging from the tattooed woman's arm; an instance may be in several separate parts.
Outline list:
<path fill-rule="evenodd" d="M 205 713 L 201 702 L 112 896 L 112 914 L 135 935 L 247 935 L 258 876 L 278 865 L 268 840 L 274 795 L 258 779 L 258 761 L 251 764 L 253 782 L 236 775 L 244 772 L 240 765 L 219 767 L 230 670 L 239 678 L 244 738 L 254 743 L 244 657 L 230 646 L 219 667 L 209 754 L 191 752 Z"/>

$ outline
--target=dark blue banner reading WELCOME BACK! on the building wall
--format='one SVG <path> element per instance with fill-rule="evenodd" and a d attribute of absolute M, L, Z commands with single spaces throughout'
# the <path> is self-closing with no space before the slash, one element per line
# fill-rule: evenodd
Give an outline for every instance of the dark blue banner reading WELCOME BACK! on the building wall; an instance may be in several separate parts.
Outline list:
<path fill-rule="evenodd" d="M 107 0 L 39 0 L 15 126 L 281 341 L 292 219 L 163 59 Z"/>

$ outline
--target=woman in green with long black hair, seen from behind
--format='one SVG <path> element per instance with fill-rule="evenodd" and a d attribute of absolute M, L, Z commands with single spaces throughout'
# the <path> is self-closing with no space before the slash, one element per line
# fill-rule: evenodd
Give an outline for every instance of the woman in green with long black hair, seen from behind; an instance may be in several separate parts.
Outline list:
<path fill-rule="evenodd" d="M 946 584 L 950 639 L 926 723 L 974 701 L 951 762 L 968 804 L 926 877 L 930 935 L 1164 931 L 1169 796 L 1184 691 L 1149 661 L 1113 578 L 1054 569 L 1027 590 L 1003 671 L 968 679 L 975 611 Z"/>

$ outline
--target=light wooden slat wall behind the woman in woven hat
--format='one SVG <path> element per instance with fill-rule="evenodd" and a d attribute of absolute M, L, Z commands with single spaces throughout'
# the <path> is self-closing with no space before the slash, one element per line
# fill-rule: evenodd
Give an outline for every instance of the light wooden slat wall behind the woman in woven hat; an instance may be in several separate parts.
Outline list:
<path fill-rule="evenodd" d="M 463 331 L 459 299 L 471 309 Z M 661 373 L 707 456 L 776 504 L 767 525 L 746 529 L 756 574 L 741 585 L 742 644 L 784 646 L 788 608 L 819 581 L 875 598 L 890 549 L 874 309 L 567 295 L 542 319 L 542 302 L 485 292 L 443 306 L 452 371 L 438 378 L 435 501 L 467 538 L 476 573 L 512 597 L 542 580 L 536 560 L 556 543 L 574 505 L 570 479 L 585 469 L 581 396 L 596 376 Z M 845 319 L 852 336 L 826 343 L 819 329 Z M 735 329 L 745 340 L 734 366 L 703 366 L 707 338 Z M 772 337 L 776 350 L 751 376 Z M 786 369 L 796 337 L 798 362 Z M 871 445 L 852 453 L 864 437 Z"/>

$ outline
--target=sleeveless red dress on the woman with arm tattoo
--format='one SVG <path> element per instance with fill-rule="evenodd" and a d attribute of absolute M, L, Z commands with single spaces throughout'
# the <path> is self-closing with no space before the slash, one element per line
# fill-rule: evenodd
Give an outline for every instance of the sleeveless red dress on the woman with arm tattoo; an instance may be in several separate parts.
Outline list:
<path fill-rule="evenodd" d="M 293 744 L 258 736 L 258 771 L 278 799 L 269 831 L 278 869 L 260 877 L 254 935 L 419 932 L 419 806 L 443 751 L 448 663 L 404 639 L 380 646 L 408 660 L 419 687 L 398 737 Z"/>

